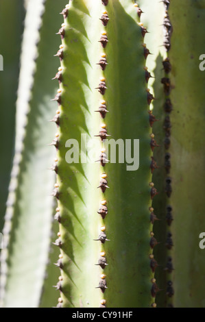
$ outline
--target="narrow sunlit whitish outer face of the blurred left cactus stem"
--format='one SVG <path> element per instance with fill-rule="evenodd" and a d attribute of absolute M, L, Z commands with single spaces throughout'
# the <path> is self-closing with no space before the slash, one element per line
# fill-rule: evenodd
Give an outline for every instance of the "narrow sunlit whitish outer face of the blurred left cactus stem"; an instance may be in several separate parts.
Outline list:
<path fill-rule="evenodd" d="M 25 18 L 25 31 L 21 52 L 21 59 L 24 64 L 22 64 L 22 69 L 19 78 L 19 98 L 16 102 L 16 142 L 15 142 L 15 154 L 12 166 L 12 173 L 9 186 L 9 195 L 7 200 L 7 208 L 5 212 L 5 224 L 3 227 L 3 238 L 4 238 L 4 249 L 1 251 L 1 306 L 7 306 L 8 301 L 6 298 L 5 288 L 10 288 L 8 283 L 8 274 L 11 274 L 11 269 L 8 268 L 8 254 L 10 252 L 9 247 L 12 245 L 12 222 L 15 220 L 16 212 L 14 210 L 17 188 L 19 188 L 17 182 L 19 181 L 21 173 L 21 161 L 22 153 L 25 149 L 24 138 L 25 138 L 25 125 L 27 124 L 27 114 L 30 111 L 29 99 L 31 98 L 31 88 L 34 84 L 34 71 L 35 63 L 34 60 L 38 53 L 38 47 L 36 46 L 39 41 L 39 30 L 42 24 L 42 15 L 44 12 L 44 0 L 34 1 L 29 3 L 29 8 L 27 10 L 27 16 Z M 33 17 L 34 23 L 29 23 Z M 30 36 L 32 34 L 32 36 Z M 29 39 L 29 41 L 28 41 Z M 30 55 L 27 54 L 29 51 Z M 23 75 L 27 74 L 26 81 Z M 11 274 L 12 275 L 12 274 Z M 13 287 L 13 284 L 11 284 Z M 12 304 L 14 304 L 13 299 L 10 299 Z M 18 301 L 18 299 L 16 299 Z M 4 303 L 3 303 L 4 302 Z"/>

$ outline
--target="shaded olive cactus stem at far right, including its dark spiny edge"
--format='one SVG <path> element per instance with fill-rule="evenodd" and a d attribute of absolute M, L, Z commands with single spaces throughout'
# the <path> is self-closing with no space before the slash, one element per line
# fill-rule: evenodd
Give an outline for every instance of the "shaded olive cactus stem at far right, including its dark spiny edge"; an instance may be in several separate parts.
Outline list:
<path fill-rule="evenodd" d="M 164 22 L 167 46 L 161 79 L 164 103 L 156 113 L 161 118 L 160 124 L 154 125 L 158 140 L 164 141 L 160 155 L 159 151 L 155 155 L 162 171 L 154 175 L 154 181 L 160 182 L 161 195 L 156 197 L 153 206 L 158 217 L 164 220 L 162 227 L 158 225 L 154 230 L 160 234 L 163 244 L 156 249 L 156 258 L 163 267 L 156 273 L 157 279 L 161 277 L 163 289 L 156 302 L 168 307 L 203 307 L 205 263 L 198 238 L 203 230 L 200 187 L 204 173 L 202 106 L 205 97 L 204 74 L 198 62 L 204 52 L 200 28 L 205 6 L 204 1 L 170 2 Z M 184 32 L 186 38 L 180 38 Z"/>

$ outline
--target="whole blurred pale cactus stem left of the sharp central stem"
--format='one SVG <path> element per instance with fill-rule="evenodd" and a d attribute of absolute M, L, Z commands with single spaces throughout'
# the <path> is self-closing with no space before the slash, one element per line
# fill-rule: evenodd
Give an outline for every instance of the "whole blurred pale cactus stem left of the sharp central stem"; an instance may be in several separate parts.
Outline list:
<path fill-rule="evenodd" d="M 51 37 L 60 21 L 60 16 L 56 18 L 58 10 L 60 5 L 53 0 L 46 1 L 45 14 L 42 0 L 29 1 L 27 8 L 17 101 L 16 155 L 3 230 L 7 248 L 1 253 L 1 297 L 5 307 L 37 307 L 47 269 L 53 212 L 49 194 L 54 181 L 47 170 L 52 160 L 47 143 L 54 128 L 48 123 L 53 109 L 49 97 L 58 87 L 51 81 L 50 62 L 57 68 L 51 51 L 54 53 L 59 44 L 57 38 L 51 42 Z M 55 294 L 50 287 L 50 293 Z"/>

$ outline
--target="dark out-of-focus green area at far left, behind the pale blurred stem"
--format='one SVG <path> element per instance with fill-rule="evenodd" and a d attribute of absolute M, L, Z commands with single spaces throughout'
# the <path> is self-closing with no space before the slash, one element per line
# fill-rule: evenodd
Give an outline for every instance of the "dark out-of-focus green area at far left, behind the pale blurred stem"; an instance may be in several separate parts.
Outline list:
<path fill-rule="evenodd" d="M 12 21 L 12 23 L 8 23 L 8 16 L 10 17 L 10 21 Z M 18 86 L 19 55 L 21 51 L 21 34 L 23 32 L 23 19 L 23 0 L 1 1 L 0 54 L 3 57 L 3 71 L 0 71 L 0 131 L 1 138 L 6 138 L 6 140 L 2 140 L 1 142 L 1 149 L 3 153 L 1 153 L 0 160 L 0 232 L 2 232 L 3 228 L 3 216 L 5 214 L 5 203 L 8 197 L 10 170 L 12 167 L 15 103 L 16 90 Z"/>

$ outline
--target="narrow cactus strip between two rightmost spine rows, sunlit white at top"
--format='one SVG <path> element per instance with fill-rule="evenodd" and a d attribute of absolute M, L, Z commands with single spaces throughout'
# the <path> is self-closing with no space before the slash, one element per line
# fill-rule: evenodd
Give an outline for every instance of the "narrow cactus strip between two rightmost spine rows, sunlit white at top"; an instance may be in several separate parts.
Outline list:
<path fill-rule="evenodd" d="M 155 278 L 160 288 L 160 292 L 156 295 L 157 307 L 165 306 L 165 293 L 166 293 L 166 258 L 167 251 L 165 249 L 165 238 L 166 238 L 166 221 L 165 221 L 165 193 L 164 193 L 164 131 L 163 126 L 163 110 L 162 105 L 165 101 L 162 87 L 159 86 L 160 80 L 162 79 L 162 59 L 166 57 L 166 52 L 163 44 L 163 32 L 162 23 L 163 17 L 165 16 L 165 8 L 162 2 L 158 0 L 138 0 L 136 1 L 142 8 L 143 14 L 141 14 L 141 21 L 147 26 L 149 34 L 146 35 L 145 42 L 147 47 L 151 51 L 152 55 L 147 58 L 146 65 L 154 76 L 149 79 L 149 88 L 154 92 L 154 100 L 151 104 L 152 115 L 155 119 L 152 125 L 153 133 L 156 138 L 156 142 L 160 145 L 157 149 L 154 149 L 154 160 L 156 160 L 159 169 L 154 170 L 153 179 L 155 186 L 158 188 L 159 194 L 154 197 L 152 202 L 152 208 L 154 211 L 151 213 L 155 215 L 154 219 L 154 237 L 160 242 L 157 247 L 154 247 L 154 260 L 158 262 L 158 267 L 155 270 Z M 154 16 L 154 18 L 153 18 Z"/>

